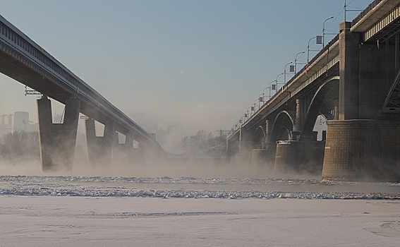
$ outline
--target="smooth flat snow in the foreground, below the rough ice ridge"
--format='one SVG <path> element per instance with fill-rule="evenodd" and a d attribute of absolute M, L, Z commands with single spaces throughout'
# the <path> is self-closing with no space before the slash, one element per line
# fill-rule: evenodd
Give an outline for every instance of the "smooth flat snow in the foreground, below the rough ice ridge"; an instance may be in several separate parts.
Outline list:
<path fill-rule="evenodd" d="M 399 246 L 398 200 L 1 196 L 0 246 Z"/>

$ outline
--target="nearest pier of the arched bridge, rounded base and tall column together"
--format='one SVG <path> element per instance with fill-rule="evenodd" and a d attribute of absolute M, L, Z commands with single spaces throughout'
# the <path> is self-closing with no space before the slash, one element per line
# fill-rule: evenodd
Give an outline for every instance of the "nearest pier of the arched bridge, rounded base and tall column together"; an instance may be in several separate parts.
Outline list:
<path fill-rule="evenodd" d="M 363 42 L 341 23 L 339 42 L 339 120 L 327 121 L 322 179 L 400 181 L 400 118 L 382 112 L 399 41 Z"/>

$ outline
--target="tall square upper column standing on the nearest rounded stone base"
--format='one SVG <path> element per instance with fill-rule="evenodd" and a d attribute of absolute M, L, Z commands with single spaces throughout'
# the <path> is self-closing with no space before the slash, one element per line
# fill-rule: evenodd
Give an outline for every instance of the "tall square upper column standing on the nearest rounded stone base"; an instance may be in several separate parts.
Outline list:
<path fill-rule="evenodd" d="M 396 76 L 396 46 L 362 43 L 350 25 L 339 26 L 339 120 L 376 119 Z"/>

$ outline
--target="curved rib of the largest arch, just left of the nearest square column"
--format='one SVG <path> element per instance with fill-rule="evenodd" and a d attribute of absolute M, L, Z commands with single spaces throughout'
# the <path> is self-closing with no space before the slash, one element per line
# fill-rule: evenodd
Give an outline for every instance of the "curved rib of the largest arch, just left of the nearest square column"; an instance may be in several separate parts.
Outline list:
<path fill-rule="evenodd" d="M 310 107 L 308 107 L 307 115 L 305 116 L 305 121 L 303 122 L 303 128 L 301 128 L 301 138 L 307 138 L 311 135 L 314 129 L 315 121 L 317 120 L 317 116 L 322 114 L 320 112 L 320 108 L 325 101 L 325 98 L 338 84 L 339 76 L 334 76 L 333 78 L 329 78 L 329 80 L 325 81 L 325 83 L 317 89 L 313 100 L 311 100 Z M 325 116 L 325 114 L 322 115 Z"/>

